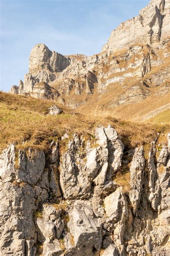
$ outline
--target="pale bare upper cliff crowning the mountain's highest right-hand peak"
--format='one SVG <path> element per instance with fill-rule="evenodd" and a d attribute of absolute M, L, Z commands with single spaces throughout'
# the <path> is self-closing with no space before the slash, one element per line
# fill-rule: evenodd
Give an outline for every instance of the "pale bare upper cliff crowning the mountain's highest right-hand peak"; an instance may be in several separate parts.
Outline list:
<path fill-rule="evenodd" d="M 153 44 L 169 36 L 168 0 L 151 0 L 137 17 L 121 23 L 116 28 L 103 50 L 117 50 L 135 43 Z M 164 19 L 165 18 L 165 19 Z"/>

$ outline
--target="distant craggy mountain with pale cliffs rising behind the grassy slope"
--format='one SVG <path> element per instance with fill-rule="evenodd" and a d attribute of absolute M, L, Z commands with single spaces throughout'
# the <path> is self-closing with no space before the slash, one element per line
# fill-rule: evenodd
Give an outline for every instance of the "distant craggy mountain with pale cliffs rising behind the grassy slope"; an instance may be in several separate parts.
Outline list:
<path fill-rule="evenodd" d="M 64 56 L 37 44 L 29 73 L 10 93 L 53 99 L 81 113 L 107 110 L 134 121 L 169 109 L 169 10 L 169 0 L 152 0 L 90 57 Z"/>

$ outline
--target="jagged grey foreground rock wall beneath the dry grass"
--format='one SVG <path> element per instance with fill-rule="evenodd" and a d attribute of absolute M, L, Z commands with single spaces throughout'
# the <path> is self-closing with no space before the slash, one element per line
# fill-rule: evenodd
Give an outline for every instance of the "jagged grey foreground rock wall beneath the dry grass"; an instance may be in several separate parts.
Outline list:
<path fill-rule="evenodd" d="M 111 126 L 96 127 L 95 140 L 63 140 L 65 153 L 58 142 L 48 153 L 13 144 L 2 152 L 0 254 L 169 255 L 170 134 L 167 146 L 151 143 L 148 161 L 143 147 L 131 150 L 129 181 L 127 152 Z"/>

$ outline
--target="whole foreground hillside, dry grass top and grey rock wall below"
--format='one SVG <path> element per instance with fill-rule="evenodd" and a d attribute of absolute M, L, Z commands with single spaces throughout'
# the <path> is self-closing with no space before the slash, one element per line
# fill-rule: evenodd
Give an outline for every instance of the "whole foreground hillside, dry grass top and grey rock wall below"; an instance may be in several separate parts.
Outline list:
<path fill-rule="evenodd" d="M 168 255 L 170 126 L 54 103 L 0 92 L 1 253 Z"/>

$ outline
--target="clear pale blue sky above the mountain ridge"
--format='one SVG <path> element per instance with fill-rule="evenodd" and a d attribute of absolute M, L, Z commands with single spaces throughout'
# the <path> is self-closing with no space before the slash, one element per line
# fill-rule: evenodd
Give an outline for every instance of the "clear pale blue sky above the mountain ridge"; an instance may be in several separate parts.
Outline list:
<path fill-rule="evenodd" d="M 0 89 L 9 91 L 28 73 L 29 53 L 44 43 L 61 54 L 93 55 L 113 29 L 149 0 L 0 0 Z"/>

